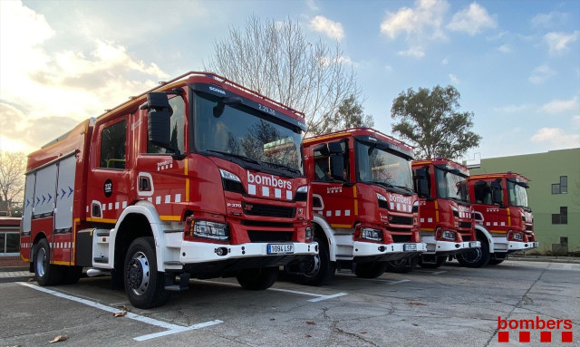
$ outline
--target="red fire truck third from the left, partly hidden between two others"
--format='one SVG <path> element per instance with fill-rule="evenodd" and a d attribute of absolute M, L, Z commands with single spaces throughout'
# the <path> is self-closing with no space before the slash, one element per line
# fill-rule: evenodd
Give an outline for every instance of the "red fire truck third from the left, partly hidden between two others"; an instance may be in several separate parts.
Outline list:
<path fill-rule="evenodd" d="M 469 169 L 449 159 L 417 160 L 411 165 L 419 194 L 420 240 L 427 245 L 419 264 L 439 267 L 448 257 L 479 247 L 469 202 Z"/>

